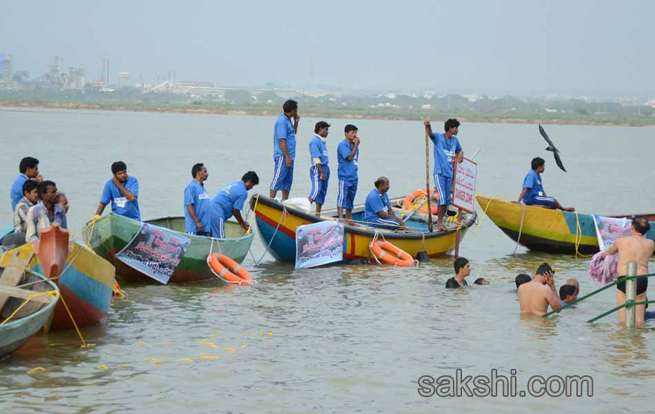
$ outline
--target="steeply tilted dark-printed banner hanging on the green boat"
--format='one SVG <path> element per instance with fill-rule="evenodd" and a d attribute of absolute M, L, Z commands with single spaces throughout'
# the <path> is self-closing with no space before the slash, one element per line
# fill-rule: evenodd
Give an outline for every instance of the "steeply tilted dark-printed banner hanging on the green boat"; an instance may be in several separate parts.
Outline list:
<path fill-rule="evenodd" d="M 132 241 L 116 257 L 157 282 L 167 284 L 189 244 L 191 239 L 168 228 L 141 223 Z"/>

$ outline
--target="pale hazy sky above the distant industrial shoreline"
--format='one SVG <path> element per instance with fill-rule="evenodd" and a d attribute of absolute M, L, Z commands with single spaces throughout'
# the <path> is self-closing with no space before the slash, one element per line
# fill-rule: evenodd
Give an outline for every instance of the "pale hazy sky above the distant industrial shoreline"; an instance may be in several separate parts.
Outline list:
<path fill-rule="evenodd" d="M 0 52 L 97 77 L 626 95 L 655 90 L 655 1 L 0 0 Z M 648 24 L 647 24 L 648 23 Z M 313 57 L 313 77 L 310 79 Z M 655 95 L 655 94 L 654 94 Z"/>

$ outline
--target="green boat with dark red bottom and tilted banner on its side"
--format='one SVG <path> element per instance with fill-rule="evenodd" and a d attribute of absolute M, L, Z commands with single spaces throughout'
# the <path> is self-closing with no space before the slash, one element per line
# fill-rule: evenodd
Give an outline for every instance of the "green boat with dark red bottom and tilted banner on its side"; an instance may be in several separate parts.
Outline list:
<path fill-rule="evenodd" d="M 245 234 L 245 230 L 236 221 L 225 221 L 224 239 L 188 235 L 185 233 L 184 217 L 164 217 L 145 221 L 145 223 L 168 228 L 191 239 L 189 248 L 168 281 L 170 283 L 216 279 L 216 275 L 212 273 L 207 264 L 208 255 L 221 253 L 235 262 L 241 263 L 248 254 L 254 238 L 254 232 Z M 141 228 L 141 221 L 109 214 L 87 226 L 82 233 L 82 239 L 84 244 L 88 244 L 98 255 L 116 266 L 118 279 L 124 282 L 159 284 L 156 280 L 116 258 L 116 254 L 130 243 L 139 228 Z"/>

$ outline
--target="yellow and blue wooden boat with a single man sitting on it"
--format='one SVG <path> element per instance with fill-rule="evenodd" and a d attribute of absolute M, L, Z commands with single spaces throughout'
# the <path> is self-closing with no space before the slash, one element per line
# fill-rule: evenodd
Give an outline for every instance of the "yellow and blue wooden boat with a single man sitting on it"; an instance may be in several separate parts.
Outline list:
<path fill-rule="evenodd" d="M 503 233 L 530 250 L 571 255 L 576 254 L 576 251 L 583 255 L 592 255 L 600 250 L 594 216 L 591 214 L 576 214 L 550 208 L 525 206 L 487 195 L 476 195 L 475 198 L 478 200 L 480 208 L 498 228 L 503 230 Z M 655 215 L 645 216 L 651 221 L 651 229 L 646 237 L 655 239 L 655 223 L 653 222 Z M 522 217 L 523 226 L 521 226 Z M 607 215 L 605 217 L 634 216 Z M 521 233 L 520 239 L 519 233 Z"/>

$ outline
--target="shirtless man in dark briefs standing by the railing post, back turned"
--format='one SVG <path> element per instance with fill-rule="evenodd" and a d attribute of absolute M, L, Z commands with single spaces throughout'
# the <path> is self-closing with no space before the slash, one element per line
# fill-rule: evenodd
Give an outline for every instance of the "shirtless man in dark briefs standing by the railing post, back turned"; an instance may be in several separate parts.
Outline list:
<path fill-rule="evenodd" d="M 621 237 L 616 240 L 614 244 L 603 253 L 603 257 L 607 255 L 616 255 L 618 253 L 618 267 L 616 268 L 618 275 L 627 275 L 628 262 L 637 262 L 637 275 L 647 275 L 648 273 L 648 260 L 653 254 L 655 248 L 651 239 L 647 239 L 645 234 L 650 230 L 650 224 L 645 217 L 636 217 L 632 220 L 632 228 L 630 235 Z M 637 295 L 635 302 L 644 302 L 646 298 L 646 289 L 648 288 L 648 278 L 638 277 L 637 279 Z M 616 285 L 616 306 L 625 304 L 625 282 Z M 636 307 L 636 315 L 634 322 L 637 324 L 644 323 L 644 313 L 646 311 L 645 305 L 638 305 Z M 625 308 L 618 311 L 618 321 L 625 320 Z"/>

